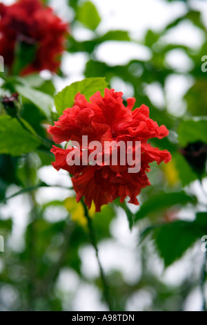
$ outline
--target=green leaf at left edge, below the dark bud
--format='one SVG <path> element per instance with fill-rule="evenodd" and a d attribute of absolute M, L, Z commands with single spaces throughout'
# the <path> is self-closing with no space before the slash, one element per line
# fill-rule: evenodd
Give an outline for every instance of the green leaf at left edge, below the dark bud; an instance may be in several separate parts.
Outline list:
<path fill-rule="evenodd" d="M 37 147 L 40 142 L 9 115 L 0 116 L 0 154 L 21 156 Z"/>

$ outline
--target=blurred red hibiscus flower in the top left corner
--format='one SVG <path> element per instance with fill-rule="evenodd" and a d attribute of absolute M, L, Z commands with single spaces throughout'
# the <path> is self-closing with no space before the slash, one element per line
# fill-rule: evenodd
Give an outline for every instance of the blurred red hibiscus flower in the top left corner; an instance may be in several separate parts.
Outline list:
<path fill-rule="evenodd" d="M 21 75 L 43 69 L 57 71 L 67 24 L 51 8 L 39 0 L 20 0 L 12 6 L 0 3 L 0 16 L 0 55 L 6 66 L 11 68 L 17 44 L 23 42 L 34 46 L 36 53 Z"/>

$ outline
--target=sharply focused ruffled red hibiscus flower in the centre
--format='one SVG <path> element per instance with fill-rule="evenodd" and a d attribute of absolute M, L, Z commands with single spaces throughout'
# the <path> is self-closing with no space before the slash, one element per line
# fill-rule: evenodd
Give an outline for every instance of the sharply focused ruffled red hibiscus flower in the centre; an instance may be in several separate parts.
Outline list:
<path fill-rule="evenodd" d="M 82 163 L 71 166 L 67 163 L 67 156 L 72 147 L 61 149 L 53 146 L 51 150 L 55 154 L 53 167 L 57 170 L 66 169 L 72 174 L 77 202 L 84 196 L 85 203 L 90 208 L 93 200 L 97 212 L 100 211 L 101 205 L 108 204 L 118 197 L 123 203 L 129 196 L 129 202 L 138 205 L 137 195 L 142 188 L 150 185 L 146 175 L 150 171 L 149 163 L 157 161 L 159 164 L 163 160 L 168 163 L 171 159 L 167 150 L 160 151 L 148 143 L 149 138 L 160 139 L 168 136 L 166 127 L 164 125 L 159 127 L 157 122 L 149 118 L 149 109 L 145 105 L 132 111 L 135 98 L 128 98 L 128 106 L 124 106 L 122 95 L 123 93 L 116 93 L 114 89 L 105 89 L 104 97 L 98 91 L 88 102 L 86 97 L 79 93 L 72 108 L 63 111 L 55 126 L 48 129 L 57 143 L 72 140 L 82 146 L 82 136 L 88 136 L 88 142 L 96 140 L 102 144 L 112 140 L 132 141 L 134 150 L 135 141 L 141 142 L 141 168 L 135 173 L 129 173 L 127 163 L 121 165 L 120 160 L 116 166 L 105 162 L 99 165 Z M 79 153 L 83 156 L 83 151 Z"/>

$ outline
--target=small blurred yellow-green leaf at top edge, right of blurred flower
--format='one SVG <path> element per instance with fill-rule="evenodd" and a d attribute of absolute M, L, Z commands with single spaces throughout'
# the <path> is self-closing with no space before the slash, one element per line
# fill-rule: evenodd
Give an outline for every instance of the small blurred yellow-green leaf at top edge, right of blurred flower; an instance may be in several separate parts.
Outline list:
<path fill-rule="evenodd" d="M 94 4 L 87 1 L 83 3 L 82 6 L 79 6 L 77 10 L 77 20 L 91 30 L 95 30 L 99 25 L 101 18 L 99 17 L 99 13 Z"/>

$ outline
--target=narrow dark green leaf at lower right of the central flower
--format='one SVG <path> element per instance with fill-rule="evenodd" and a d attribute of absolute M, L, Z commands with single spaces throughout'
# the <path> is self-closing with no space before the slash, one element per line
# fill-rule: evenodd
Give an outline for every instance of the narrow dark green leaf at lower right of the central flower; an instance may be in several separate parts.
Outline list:
<path fill-rule="evenodd" d="M 155 196 L 151 196 L 141 206 L 139 211 L 135 214 L 135 221 L 143 219 L 149 214 L 155 214 L 161 210 L 165 210 L 173 205 L 186 205 L 187 203 L 196 203 L 195 196 L 190 196 L 185 192 L 161 192 Z"/>

